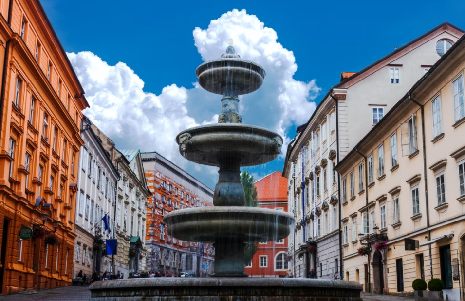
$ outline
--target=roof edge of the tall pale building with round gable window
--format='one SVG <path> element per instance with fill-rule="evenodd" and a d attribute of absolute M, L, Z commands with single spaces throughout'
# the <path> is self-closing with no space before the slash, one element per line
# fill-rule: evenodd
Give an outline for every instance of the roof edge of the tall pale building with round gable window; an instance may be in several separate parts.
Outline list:
<path fill-rule="evenodd" d="M 328 98 L 328 96 L 330 96 L 331 94 L 331 91 L 333 91 L 333 89 L 335 88 L 339 88 L 341 86 L 343 86 L 344 84 L 346 84 L 347 82 L 355 79 L 356 77 L 358 77 L 359 75 L 362 75 L 363 73 L 365 73 L 366 71 L 372 69 L 373 67 L 375 67 L 376 65 L 378 65 L 379 63 L 381 63 L 382 61 L 384 60 L 387 60 L 389 59 L 390 57 L 392 57 L 393 55 L 401 52 L 402 50 L 404 50 L 405 48 L 409 47 L 410 45 L 416 43 L 417 41 L 419 40 L 422 40 L 423 38 L 427 37 L 428 35 L 430 35 L 431 33 L 435 32 L 436 30 L 444 27 L 444 26 L 450 26 L 452 27 L 453 29 L 457 30 L 457 31 L 460 31 L 462 33 L 465 33 L 465 31 L 449 22 L 444 22 L 444 23 L 441 23 L 439 24 L 438 26 L 434 27 L 433 29 L 429 30 L 427 33 L 421 35 L 420 37 L 414 39 L 414 40 L 411 40 L 409 41 L 407 44 L 403 45 L 402 47 L 399 47 L 397 48 L 396 50 L 392 51 L 391 53 L 389 53 L 388 55 L 384 56 L 383 58 L 375 61 L 374 63 L 372 63 L 371 65 L 369 65 L 368 67 L 365 67 L 364 69 L 360 70 L 359 72 L 353 74 L 351 77 L 349 78 L 346 78 L 344 80 L 342 80 L 341 82 L 339 82 L 338 84 L 336 84 L 335 86 L 333 86 L 331 89 L 329 89 L 328 93 L 326 93 L 326 95 L 323 97 L 323 99 L 318 103 L 318 105 L 316 106 L 316 109 L 315 111 L 313 112 L 312 116 L 310 117 L 310 119 L 302 124 L 302 125 L 299 125 L 296 129 L 296 132 L 298 133 L 301 133 L 303 132 L 306 128 L 307 128 L 307 125 L 310 123 L 310 120 L 312 120 L 312 118 L 316 115 L 316 112 L 318 111 L 318 109 L 321 107 L 321 104 L 324 102 L 325 99 Z"/>

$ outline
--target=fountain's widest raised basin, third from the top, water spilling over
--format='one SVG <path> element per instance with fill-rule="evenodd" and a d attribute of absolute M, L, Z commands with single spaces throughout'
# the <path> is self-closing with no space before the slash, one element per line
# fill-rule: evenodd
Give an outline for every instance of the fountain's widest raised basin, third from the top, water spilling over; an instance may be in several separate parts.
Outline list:
<path fill-rule="evenodd" d="M 256 207 L 182 209 L 168 213 L 163 221 L 168 224 L 171 236 L 197 242 L 276 241 L 287 237 L 295 223 L 290 213 Z"/>

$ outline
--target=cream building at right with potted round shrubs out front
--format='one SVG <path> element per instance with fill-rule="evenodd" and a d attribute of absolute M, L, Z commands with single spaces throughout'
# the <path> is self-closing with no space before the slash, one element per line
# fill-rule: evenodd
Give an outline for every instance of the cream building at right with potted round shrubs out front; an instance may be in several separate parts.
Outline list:
<path fill-rule="evenodd" d="M 441 59 L 336 166 L 347 192 L 344 275 L 365 291 L 404 294 L 416 278 L 441 278 L 444 299 L 459 301 L 465 297 L 465 41 L 432 42 Z M 377 241 L 387 241 L 387 249 L 376 252 Z M 361 242 L 371 246 L 367 256 L 357 253 Z"/>

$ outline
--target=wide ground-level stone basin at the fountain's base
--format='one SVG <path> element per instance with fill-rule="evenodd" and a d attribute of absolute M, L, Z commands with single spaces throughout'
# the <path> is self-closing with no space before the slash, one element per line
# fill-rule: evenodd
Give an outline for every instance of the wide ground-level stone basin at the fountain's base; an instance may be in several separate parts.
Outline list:
<path fill-rule="evenodd" d="M 97 281 L 90 301 L 362 301 L 353 281 L 295 278 L 140 278 Z"/>

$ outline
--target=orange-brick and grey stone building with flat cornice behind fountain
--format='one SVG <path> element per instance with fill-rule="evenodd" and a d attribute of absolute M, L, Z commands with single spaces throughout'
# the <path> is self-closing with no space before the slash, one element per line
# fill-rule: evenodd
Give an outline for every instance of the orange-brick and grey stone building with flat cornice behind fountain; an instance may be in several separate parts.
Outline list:
<path fill-rule="evenodd" d="M 169 236 L 163 218 L 173 210 L 212 206 L 213 190 L 156 152 L 142 153 L 142 162 L 152 193 L 147 208 L 147 269 L 212 274 L 213 244 Z"/>

